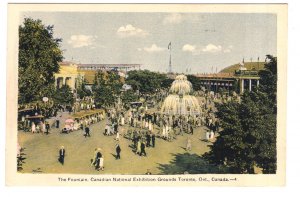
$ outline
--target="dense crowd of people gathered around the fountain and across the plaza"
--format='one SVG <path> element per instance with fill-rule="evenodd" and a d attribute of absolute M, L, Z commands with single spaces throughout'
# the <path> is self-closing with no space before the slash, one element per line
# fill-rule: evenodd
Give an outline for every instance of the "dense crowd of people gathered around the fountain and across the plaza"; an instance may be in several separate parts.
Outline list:
<path fill-rule="evenodd" d="M 178 136 L 187 135 L 186 151 L 192 150 L 192 135 L 198 127 L 205 129 L 204 140 L 212 142 L 220 131 L 220 122 L 215 116 L 217 102 L 228 102 L 237 99 L 238 96 L 228 96 L 214 94 L 211 92 L 197 91 L 194 94 L 198 97 L 200 109 L 199 114 L 161 114 L 159 112 L 160 103 L 168 95 L 166 91 L 158 91 L 153 95 L 142 95 L 144 97 L 144 105 L 142 107 L 131 107 L 129 110 L 125 108 L 106 109 L 105 113 L 92 114 L 86 117 L 77 118 L 74 122 L 65 123 L 64 129 L 75 131 L 83 130 L 85 137 L 91 137 L 90 126 L 105 120 L 105 127 L 99 128 L 104 136 L 114 136 L 115 140 L 115 158 L 121 159 L 120 140 L 124 138 L 132 144 L 130 148 L 133 153 L 140 157 L 147 157 L 147 149 L 156 147 L 157 138 L 172 142 Z M 151 102 L 149 102 L 151 101 Z M 154 104 L 153 106 L 147 103 Z M 75 111 L 89 111 L 95 108 L 94 101 L 91 97 L 86 97 L 82 102 L 76 102 L 73 106 Z M 60 128 L 60 116 L 56 118 L 56 128 Z M 49 133 L 51 125 L 46 121 L 38 123 L 31 122 L 32 133 L 43 132 Z M 65 149 L 62 146 L 59 150 L 59 162 L 64 165 Z M 104 170 L 104 156 L 101 148 L 95 148 L 91 166 L 97 171 Z"/>

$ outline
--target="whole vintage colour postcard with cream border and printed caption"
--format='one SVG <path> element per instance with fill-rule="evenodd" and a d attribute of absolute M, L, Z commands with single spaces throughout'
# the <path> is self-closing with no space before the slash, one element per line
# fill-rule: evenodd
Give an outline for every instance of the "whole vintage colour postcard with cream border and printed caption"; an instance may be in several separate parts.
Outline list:
<path fill-rule="evenodd" d="M 9 4 L 7 43 L 7 185 L 285 185 L 287 4 Z"/>

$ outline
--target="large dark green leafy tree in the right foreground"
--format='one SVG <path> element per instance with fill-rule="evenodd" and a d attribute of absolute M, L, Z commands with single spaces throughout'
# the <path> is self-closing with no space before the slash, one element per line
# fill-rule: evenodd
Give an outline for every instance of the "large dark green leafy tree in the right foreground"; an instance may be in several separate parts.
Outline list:
<path fill-rule="evenodd" d="M 269 58 L 258 89 L 245 92 L 241 103 L 217 105 L 223 131 L 205 157 L 214 164 L 225 164 L 231 173 L 254 173 L 254 166 L 263 173 L 276 173 L 277 61 Z"/>

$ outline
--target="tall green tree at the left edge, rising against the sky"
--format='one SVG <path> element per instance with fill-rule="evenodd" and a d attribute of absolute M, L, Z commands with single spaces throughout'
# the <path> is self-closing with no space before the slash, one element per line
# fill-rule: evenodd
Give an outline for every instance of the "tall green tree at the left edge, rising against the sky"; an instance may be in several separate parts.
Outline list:
<path fill-rule="evenodd" d="M 53 38 L 53 26 L 25 18 L 19 26 L 19 103 L 51 97 L 54 73 L 62 61 L 61 39 Z"/>

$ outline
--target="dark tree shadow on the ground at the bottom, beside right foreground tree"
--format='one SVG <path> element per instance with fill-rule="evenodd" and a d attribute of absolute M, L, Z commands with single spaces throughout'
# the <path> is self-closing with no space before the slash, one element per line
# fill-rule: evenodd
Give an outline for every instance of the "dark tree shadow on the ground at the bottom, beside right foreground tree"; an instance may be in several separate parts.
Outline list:
<path fill-rule="evenodd" d="M 197 154 L 172 154 L 174 159 L 170 164 L 159 164 L 160 174 L 224 174 L 228 169 L 209 164 Z"/>

